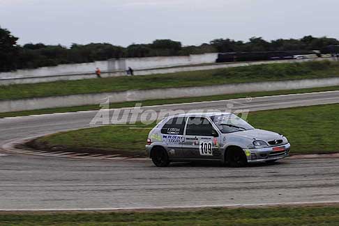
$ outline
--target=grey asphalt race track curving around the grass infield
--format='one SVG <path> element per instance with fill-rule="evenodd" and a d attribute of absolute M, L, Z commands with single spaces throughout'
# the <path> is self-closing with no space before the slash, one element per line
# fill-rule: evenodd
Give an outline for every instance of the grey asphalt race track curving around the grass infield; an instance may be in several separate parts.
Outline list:
<path fill-rule="evenodd" d="M 333 103 L 339 103 L 339 91 L 145 109 L 202 111 L 233 106 L 259 111 Z M 19 138 L 89 127 L 96 113 L 0 119 L 0 145 Z M 337 201 L 339 159 L 285 159 L 270 166 L 248 168 L 218 164 L 193 167 L 186 163 L 156 168 L 147 160 L 98 161 L 0 153 L 0 210 L 145 209 Z"/>

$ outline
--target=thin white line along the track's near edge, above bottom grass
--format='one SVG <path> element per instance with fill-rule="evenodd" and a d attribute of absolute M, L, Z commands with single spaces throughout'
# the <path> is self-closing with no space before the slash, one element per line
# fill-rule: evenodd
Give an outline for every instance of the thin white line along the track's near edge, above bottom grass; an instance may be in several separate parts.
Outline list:
<path fill-rule="evenodd" d="M 133 211 L 133 210 L 175 210 L 175 209 L 199 209 L 199 208 L 255 208 L 255 207 L 289 207 L 289 206 L 307 206 L 307 205 L 331 205 L 339 204 L 336 201 L 323 202 L 272 202 L 257 204 L 220 204 L 220 205 L 197 205 L 197 206 L 164 206 L 164 207 L 112 207 L 112 208 L 74 208 L 74 209 L 0 209 L 2 212 L 10 211 Z"/>

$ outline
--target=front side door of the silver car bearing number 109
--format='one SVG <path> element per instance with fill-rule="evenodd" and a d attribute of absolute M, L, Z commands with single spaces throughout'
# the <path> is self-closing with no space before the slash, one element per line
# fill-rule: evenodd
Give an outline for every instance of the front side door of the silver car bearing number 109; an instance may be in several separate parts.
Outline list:
<path fill-rule="evenodd" d="M 208 118 L 190 117 L 186 123 L 185 159 L 220 159 L 220 136 Z"/>

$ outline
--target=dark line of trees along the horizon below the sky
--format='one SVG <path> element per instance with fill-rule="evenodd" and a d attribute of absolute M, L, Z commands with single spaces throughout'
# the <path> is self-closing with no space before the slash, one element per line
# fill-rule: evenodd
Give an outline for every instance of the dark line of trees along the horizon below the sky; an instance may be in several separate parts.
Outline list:
<path fill-rule="evenodd" d="M 235 41 L 229 38 L 212 40 L 199 46 L 182 46 L 173 40 L 155 40 L 149 44 L 133 44 L 128 47 L 110 43 L 90 43 L 44 45 L 29 43 L 17 45 L 19 38 L 11 35 L 7 29 L 0 27 L 0 71 L 54 66 L 65 63 L 89 63 L 109 58 L 129 58 L 146 56 L 187 56 L 211 52 L 234 51 L 289 51 L 321 50 L 329 45 L 339 45 L 335 38 L 315 38 L 311 35 L 301 39 L 278 39 L 270 42 L 261 37 L 250 38 L 248 42 Z"/>

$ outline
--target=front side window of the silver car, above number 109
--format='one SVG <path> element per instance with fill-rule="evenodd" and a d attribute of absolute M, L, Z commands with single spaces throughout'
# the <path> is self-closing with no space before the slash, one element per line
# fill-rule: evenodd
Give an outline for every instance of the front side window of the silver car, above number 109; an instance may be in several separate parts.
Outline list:
<path fill-rule="evenodd" d="M 187 122 L 186 135 L 212 136 L 213 126 L 207 118 L 190 117 Z"/>

